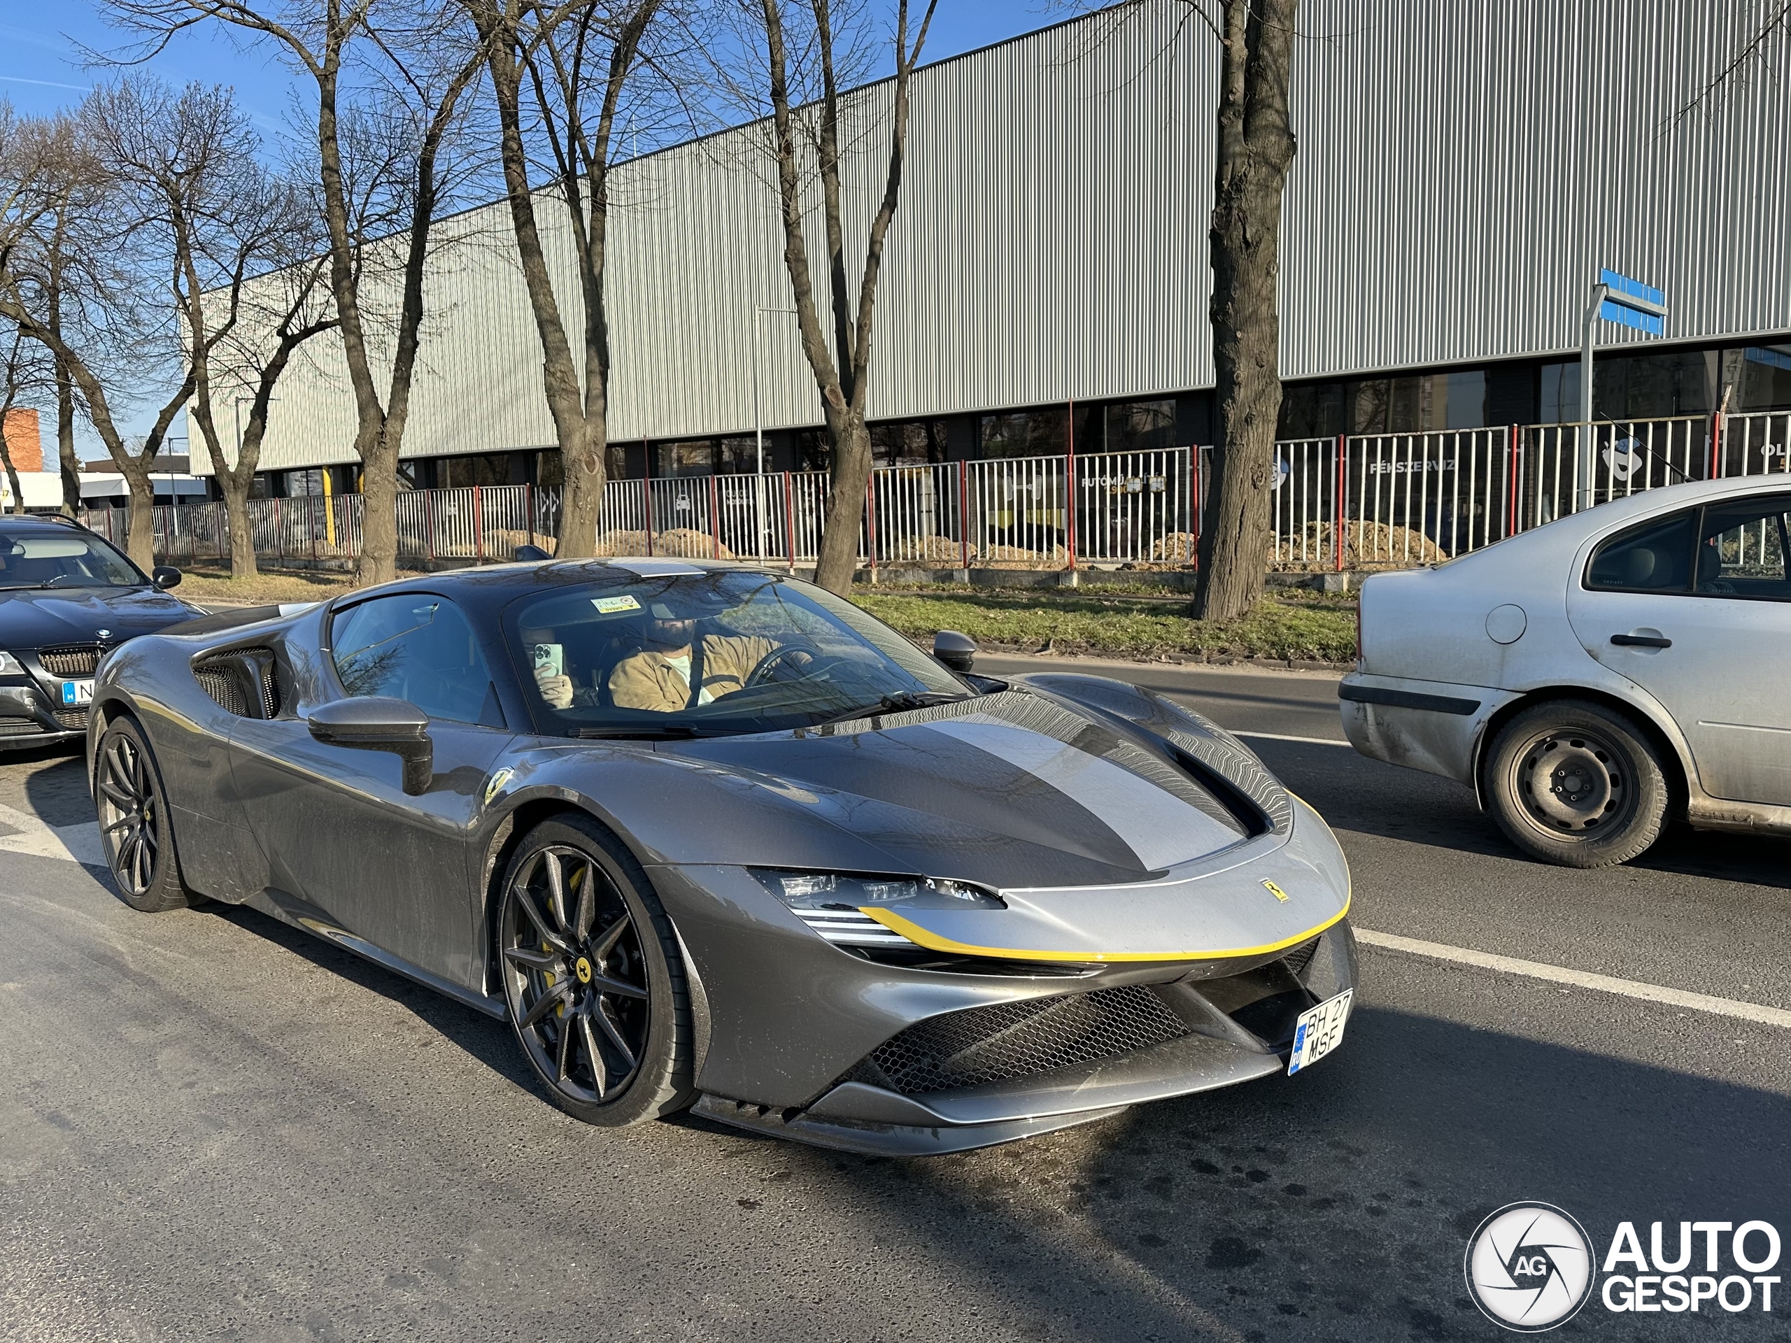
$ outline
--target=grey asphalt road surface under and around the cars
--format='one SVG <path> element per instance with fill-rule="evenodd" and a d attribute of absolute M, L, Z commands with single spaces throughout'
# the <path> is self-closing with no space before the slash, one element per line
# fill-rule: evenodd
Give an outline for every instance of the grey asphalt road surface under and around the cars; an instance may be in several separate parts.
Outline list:
<path fill-rule="evenodd" d="M 1023 663 L 1064 666 L 985 659 Z M 1465 790 L 1327 745 L 1331 677 L 1110 670 L 1322 740 L 1252 745 L 1341 834 L 1361 928 L 1791 1008 L 1787 845 L 1538 867 Z M 1461 1255 L 1503 1203 L 1599 1252 L 1619 1219 L 1791 1239 L 1778 1026 L 1365 947 L 1345 1046 L 1293 1080 L 924 1162 L 602 1132 L 505 1028 L 331 945 L 133 913 L 75 861 L 90 818 L 77 761 L 0 765 L 5 1339 L 1490 1339 Z M 1786 1309 L 1594 1302 L 1562 1336 Z"/>

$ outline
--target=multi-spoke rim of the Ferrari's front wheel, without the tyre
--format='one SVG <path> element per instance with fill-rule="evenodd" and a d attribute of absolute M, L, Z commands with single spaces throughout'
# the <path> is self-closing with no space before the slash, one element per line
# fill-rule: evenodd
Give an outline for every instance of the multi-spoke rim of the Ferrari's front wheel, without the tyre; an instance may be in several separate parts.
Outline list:
<path fill-rule="evenodd" d="M 641 1067 L 652 1006 L 621 892 L 589 854 L 548 845 L 510 879 L 498 933 L 510 1021 L 537 1071 L 575 1101 L 614 1099 Z"/>

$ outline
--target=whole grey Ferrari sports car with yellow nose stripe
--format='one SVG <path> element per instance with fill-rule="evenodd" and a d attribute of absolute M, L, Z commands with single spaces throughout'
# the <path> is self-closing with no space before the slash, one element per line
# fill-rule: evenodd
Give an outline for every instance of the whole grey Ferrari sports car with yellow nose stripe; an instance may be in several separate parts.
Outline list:
<path fill-rule="evenodd" d="M 510 564 L 113 652 L 140 910 L 249 904 L 493 1017 L 596 1125 L 931 1153 L 1298 1071 L 1349 870 L 1236 738 L 781 575 Z"/>

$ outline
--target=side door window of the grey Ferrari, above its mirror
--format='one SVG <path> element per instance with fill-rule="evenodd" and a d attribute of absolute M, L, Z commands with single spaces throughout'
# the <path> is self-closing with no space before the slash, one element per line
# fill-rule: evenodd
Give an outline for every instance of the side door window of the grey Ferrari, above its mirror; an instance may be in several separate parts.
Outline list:
<path fill-rule="evenodd" d="M 331 645 L 349 695 L 390 695 L 457 723 L 503 723 L 473 625 L 444 596 L 362 602 L 335 618 Z"/>

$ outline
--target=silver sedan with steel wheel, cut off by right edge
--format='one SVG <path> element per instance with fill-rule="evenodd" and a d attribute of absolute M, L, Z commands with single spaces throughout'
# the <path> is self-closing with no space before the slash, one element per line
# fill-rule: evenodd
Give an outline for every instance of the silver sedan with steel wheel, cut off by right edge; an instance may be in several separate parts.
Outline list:
<path fill-rule="evenodd" d="M 1361 589 L 1343 731 L 1472 784 L 1524 852 L 1791 834 L 1791 478 L 1671 485 Z"/>

